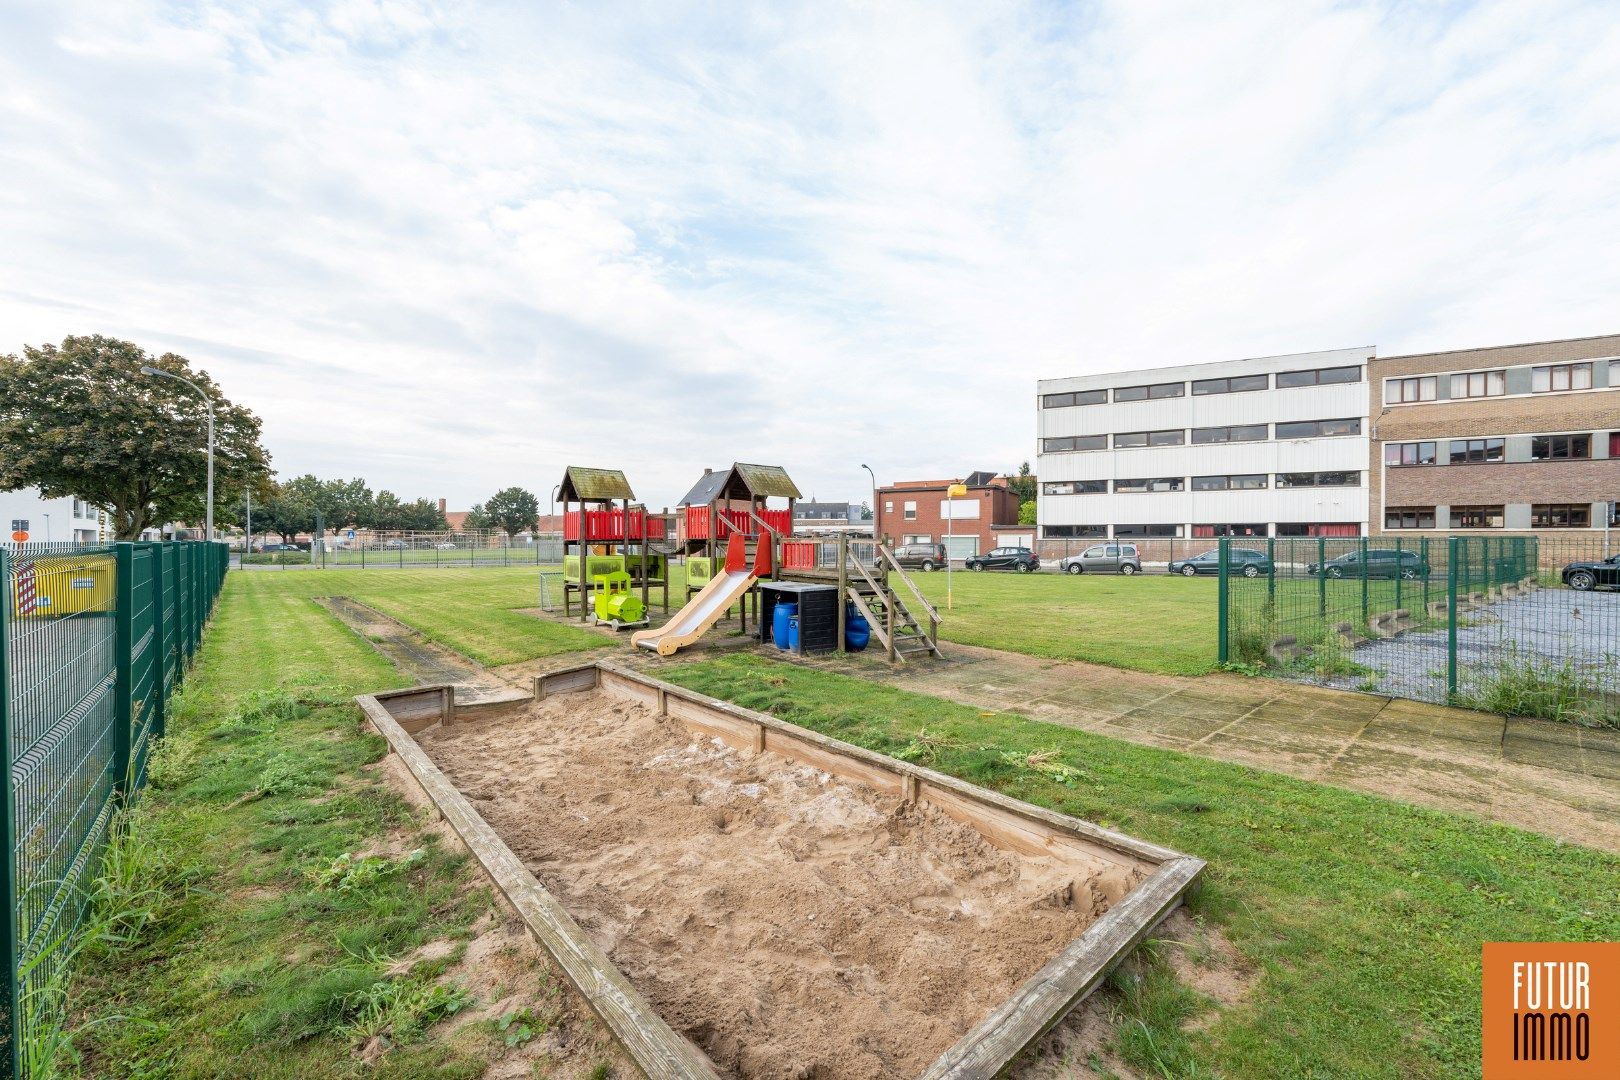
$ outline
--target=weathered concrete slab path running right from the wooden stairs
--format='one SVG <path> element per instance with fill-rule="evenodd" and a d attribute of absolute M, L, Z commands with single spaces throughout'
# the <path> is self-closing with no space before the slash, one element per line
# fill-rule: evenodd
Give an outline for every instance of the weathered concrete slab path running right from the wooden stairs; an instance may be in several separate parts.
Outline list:
<path fill-rule="evenodd" d="M 807 661 L 951 701 L 1456 810 L 1620 852 L 1620 732 L 1272 678 L 1183 678 L 951 644 Z"/>

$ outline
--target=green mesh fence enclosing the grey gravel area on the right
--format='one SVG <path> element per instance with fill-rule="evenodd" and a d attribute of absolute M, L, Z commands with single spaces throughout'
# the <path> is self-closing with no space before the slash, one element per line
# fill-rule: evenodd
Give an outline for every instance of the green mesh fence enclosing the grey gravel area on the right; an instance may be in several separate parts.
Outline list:
<path fill-rule="evenodd" d="M 1341 690 L 1617 725 L 1620 562 L 1607 559 L 1588 538 L 1220 541 L 1220 659 Z"/>

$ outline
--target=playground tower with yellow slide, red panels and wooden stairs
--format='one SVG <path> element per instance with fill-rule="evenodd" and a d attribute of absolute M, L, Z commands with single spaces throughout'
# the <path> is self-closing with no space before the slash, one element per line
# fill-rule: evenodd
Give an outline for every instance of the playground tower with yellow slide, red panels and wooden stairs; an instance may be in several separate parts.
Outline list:
<path fill-rule="evenodd" d="M 632 640 L 659 656 L 672 656 L 735 607 L 739 633 L 748 631 L 752 610 L 757 636 L 761 643 L 771 641 L 773 625 L 761 602 L 774 604 L 779 597 L 774 591 L 763 597 L 761 583 L 802 581 L 836 588 L 834 631 L 818 638 L 821 648 L 846 649 L 852 609 L 891 661 L 941 656 L 940 612 L 923 599 L 894 552 L 881 541 L 850 541 L 847 534 L 794 538 L 794 500 L 799 497 L 799 487 L 779 465 L 739 461 L 724 471 L 706 470 L 679 507 L 687 604 L 663 630 L 642 631 Z M 786 499 L 787 507 L 771 508 L 770 499 Z M 906 599 L 894 588 L 896 580 Z M 799 651 L 805 651 L 804 643 Z"/>

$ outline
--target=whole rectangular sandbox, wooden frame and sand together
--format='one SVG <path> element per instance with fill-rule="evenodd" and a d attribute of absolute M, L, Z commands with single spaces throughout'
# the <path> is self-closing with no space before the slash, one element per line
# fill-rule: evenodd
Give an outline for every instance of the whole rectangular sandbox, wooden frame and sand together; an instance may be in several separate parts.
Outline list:
<path fill-rule="evenodd" d="M 987 1077 L 1202 863 L 611 664 L 360 699 L 651 1077 Z"/>

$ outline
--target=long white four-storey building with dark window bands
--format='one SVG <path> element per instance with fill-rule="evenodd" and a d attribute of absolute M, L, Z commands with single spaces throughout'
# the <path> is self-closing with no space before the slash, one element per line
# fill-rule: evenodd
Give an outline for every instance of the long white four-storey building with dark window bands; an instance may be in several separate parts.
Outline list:
<path fill-rule="evenodd" d="M 1372 356 L 1043 379 L 1042 539 L 1364 534 Z"/>

